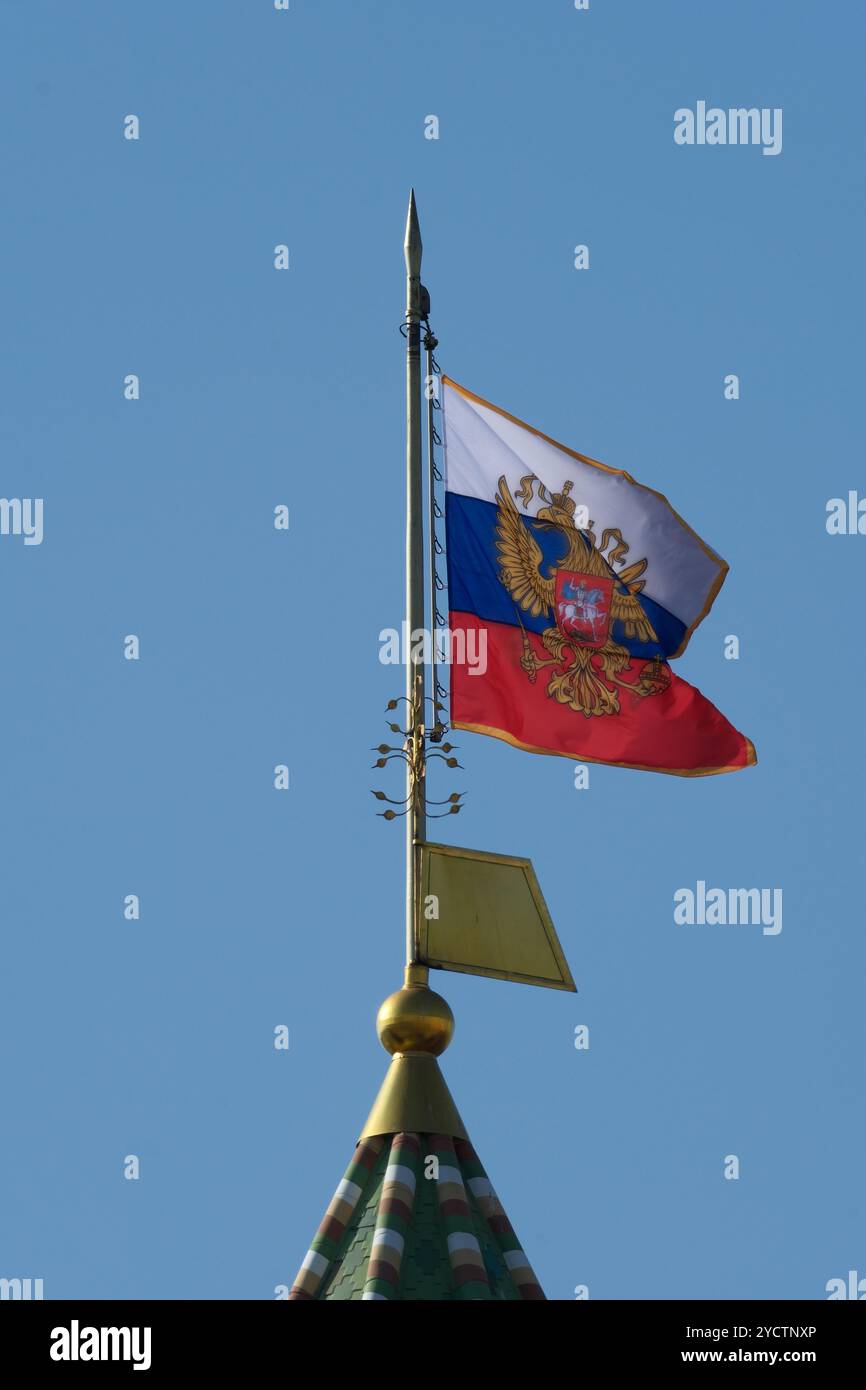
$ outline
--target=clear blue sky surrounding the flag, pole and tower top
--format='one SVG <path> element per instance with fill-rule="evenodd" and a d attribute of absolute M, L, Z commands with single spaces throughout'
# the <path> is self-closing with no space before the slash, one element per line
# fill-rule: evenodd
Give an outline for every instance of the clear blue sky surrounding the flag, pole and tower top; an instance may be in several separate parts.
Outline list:
<path fill-rule="evenodd" d="M 384 1076 L 410 185 L 443 370 L 731 564 L 678 671 L 759 756 L 577 792 L 460 739 L 450 838 L 532 858 L 580 992 L 436 976 L 450 1088 L 549 1297 L 866 1273 L 866 538 L 824 525 L 866 493 L 862 42 L 780 0 L 0 7 L 0 492 L 44 499 L 0 537 L 0 1276 L 272 1297 Z M 781 154 L 674 145 L 698 100 L 781 107 Z M 783 931 L 676 926 L 698 880 Z"/>

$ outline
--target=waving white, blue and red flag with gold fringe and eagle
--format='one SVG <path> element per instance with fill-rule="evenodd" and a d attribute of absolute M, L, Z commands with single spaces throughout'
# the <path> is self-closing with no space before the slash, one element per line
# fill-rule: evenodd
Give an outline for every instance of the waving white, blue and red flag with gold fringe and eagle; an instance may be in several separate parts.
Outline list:
<path fill-rule="evenodd" d="M 652 488 L 442 378 L 450 723 L 701 777 L 752 742 L 674 676 L 727 564 Z M 482 659 L 480 659 L 482 653 Z"/>

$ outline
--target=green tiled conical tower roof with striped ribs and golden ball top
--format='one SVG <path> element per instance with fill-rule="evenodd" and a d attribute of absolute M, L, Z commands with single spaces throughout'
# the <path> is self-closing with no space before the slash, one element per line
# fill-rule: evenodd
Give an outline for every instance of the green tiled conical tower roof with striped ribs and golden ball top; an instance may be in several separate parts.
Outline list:
<path fill-rule="evenodd" d="M 544 1298 L 436 1056 L 453 1033 L 427 969 L 382 1004 L 391 1068 L 289 1298 Z"/>

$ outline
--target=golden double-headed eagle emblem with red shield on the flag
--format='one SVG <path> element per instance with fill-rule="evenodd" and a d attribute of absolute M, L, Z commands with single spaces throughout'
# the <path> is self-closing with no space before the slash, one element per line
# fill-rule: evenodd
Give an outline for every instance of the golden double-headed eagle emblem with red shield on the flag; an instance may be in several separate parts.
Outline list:
<path fill-rule="evenodd" d="M 548 493 L 544 484 L 528 474 L 520 480 L 514 493 L 524 509 L 537 492 L 545 503 L 535 514 L 544 528 L 556 531 L 563 539 L 562 559 L 541 573 L 544 555 L 532 531 L 524 524 L 514 506 L 505 477 L 499 480 L 496 496 L 496 550 L 499 552 L 499 580 L 514 600 L 531 617 L 546 613 L 550 626 L 541 634 L 548 657 L 539 659 L 532 649 L 523 621 L 523 656 L 520 664 L 534 684 L 545 666 L 557 667 L 550 676 L 548 695 L 560 705 L 591 719 L 594 714 L 619 714 L 620 689 L 632 696 L 657 695 L 670 685 L 667 667 L 653 657 L 638 663 L 637 680 L 631 653 L 610 635 L 613 623 L 621 624 L 626 638 L 638 642 L 657 642 L 652 623 L 635 595 L 644 588 L 646 560 L 613 571 L 623 564 L 628 545 L 619 527 L 602 532 L 598 543 L 594 523 L 578 530 L 574 524 L 575 503 L 569 496 L 571 482 L 562 492 Z M 520 620 L 520 609 L 517 612 Z M 623 680 L 623 674 L 632 674 Z"/>

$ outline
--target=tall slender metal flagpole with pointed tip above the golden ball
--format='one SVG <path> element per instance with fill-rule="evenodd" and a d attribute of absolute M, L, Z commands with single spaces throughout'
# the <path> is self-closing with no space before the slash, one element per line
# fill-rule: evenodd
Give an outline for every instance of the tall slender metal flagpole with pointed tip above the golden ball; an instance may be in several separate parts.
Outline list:
<path fill-rule="evenodd" d="M 413 660 L 414 634 L 424 630 L 424 525 L 421 478 L 421 228 L 414 189 L 403 240 L 406 259 L 406 699 L 409 709 L 409 759 L 406 769 L 406 965 L 417 955 L 421 845 L 427 833 L 424 813 L 424 642 Z"/>

